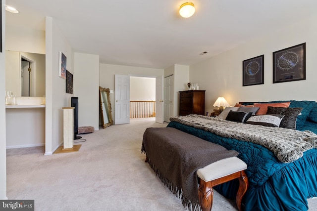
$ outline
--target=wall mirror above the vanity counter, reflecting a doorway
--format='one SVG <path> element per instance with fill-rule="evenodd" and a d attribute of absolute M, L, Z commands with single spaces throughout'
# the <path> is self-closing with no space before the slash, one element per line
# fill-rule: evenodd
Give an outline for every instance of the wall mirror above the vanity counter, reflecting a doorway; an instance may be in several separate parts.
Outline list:
<path fill-rule="evenodd" d="M 43 97 L 45 54 L 6 50 L 5 90 L 17 97 Z"/>

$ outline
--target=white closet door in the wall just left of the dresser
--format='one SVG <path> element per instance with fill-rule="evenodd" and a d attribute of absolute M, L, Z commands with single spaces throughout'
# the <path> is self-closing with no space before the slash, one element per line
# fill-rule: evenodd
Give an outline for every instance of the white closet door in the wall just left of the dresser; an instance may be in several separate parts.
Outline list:
<path fill-rule="evenodd" d="M 174 102 L 174 75 L 164 79 L 164 121 L 170 122 L 169 118 L 173 116 Z"/>

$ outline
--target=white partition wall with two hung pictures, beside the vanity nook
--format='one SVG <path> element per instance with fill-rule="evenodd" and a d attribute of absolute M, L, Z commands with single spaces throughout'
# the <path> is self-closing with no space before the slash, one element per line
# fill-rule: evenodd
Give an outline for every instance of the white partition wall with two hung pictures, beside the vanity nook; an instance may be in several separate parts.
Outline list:
<path fill-rule="evenodd" d="M 45 154 L 52 154 L 63 142 L 62 107 L 70 106 L 66 81 L 58 76 L 59 51 L 67 58 L 66 69 L 73 73 L 73 52 L 52 17 L 46 17 L 46 134 Z"/>

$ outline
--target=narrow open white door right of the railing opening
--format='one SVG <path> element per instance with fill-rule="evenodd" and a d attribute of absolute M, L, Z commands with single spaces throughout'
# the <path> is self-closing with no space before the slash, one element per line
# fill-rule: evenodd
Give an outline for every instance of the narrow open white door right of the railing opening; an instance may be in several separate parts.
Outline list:
<path fill-rule="evenodd" d="M 155 82 L 155 107 L 156 107 L 156 115 L 155 121 L 157 123 L 163 123 L 163 114 L 164 114 L 164 107 L 163 107 L 163 77 L 158 76 Z"/>

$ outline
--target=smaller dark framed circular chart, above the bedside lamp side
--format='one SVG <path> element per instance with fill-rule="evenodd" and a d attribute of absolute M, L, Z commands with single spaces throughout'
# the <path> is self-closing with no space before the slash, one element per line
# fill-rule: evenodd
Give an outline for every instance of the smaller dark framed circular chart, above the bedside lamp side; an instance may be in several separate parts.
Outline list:
<path fill-rule="evenodd" d="M 244 60 L 243 86 L 264 84 L 264 55 Z"/>

